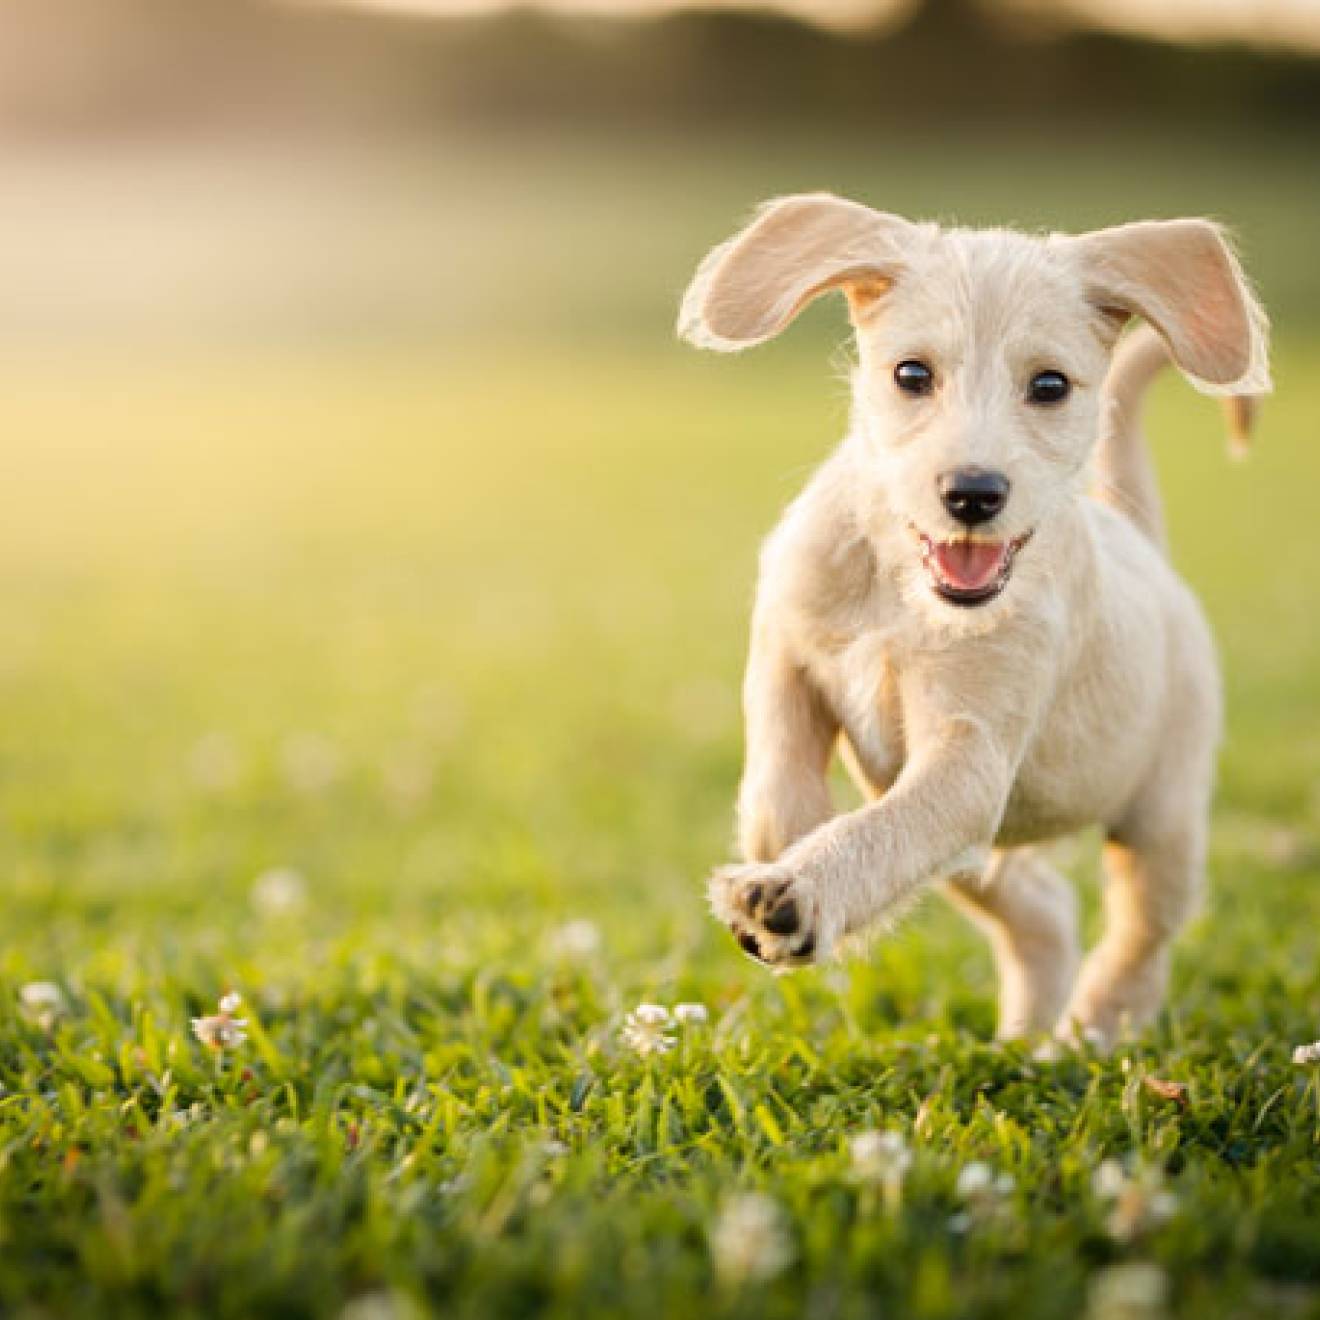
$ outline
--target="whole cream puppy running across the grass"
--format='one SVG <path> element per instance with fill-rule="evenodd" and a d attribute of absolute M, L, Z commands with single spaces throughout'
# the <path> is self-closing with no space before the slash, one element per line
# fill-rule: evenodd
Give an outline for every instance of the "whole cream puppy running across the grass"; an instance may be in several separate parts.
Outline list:
<path fill-rule="evenodd" d="M 762 552 L 744 862 L 711 907 L 785 970 L 941 882 L 991 940 L 1001 1036 L 1109 1044 L 1159 1011 L 1201 891 L 1221 719 L 1140 396 L 1171 358 L 1237 396 L 1241 430 L 1270 388 L 1265 314 L 1208 220 L 1028 236 L 813 194 L 706 257 L 680 334 L 747 348 L 833 289 L 853 420 Z M 845 814 L 836 747 L 867 797 Z M 1082 964 L 1072 890 L 1031 845 L 1097 824 L 1106 925 Z"/>

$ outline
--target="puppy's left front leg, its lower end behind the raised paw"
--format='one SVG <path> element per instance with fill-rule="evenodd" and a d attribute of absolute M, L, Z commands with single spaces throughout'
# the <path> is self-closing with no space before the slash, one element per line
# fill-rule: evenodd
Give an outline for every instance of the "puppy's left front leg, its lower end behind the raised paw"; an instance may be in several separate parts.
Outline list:
<path fill-rule="evenodd" d="M 768 626 L 752 630 L 743 715 L 738 847 L 748 862 L 772 862 L 834 814 L 828 774 L 840 725 L 805 667 Z"/>

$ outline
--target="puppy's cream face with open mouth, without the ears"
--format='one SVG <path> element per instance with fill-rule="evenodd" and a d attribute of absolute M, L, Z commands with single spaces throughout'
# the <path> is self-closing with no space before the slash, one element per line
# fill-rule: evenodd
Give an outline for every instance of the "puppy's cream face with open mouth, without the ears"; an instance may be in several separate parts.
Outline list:
<path fill-rule="evenodd" d="M 1114 323 L 1064 253 L 1016 234 L 913 236 L 883 294 L 854 294 L 863 508 L 899 568 L 982 607 L 1078 488 Z"/>

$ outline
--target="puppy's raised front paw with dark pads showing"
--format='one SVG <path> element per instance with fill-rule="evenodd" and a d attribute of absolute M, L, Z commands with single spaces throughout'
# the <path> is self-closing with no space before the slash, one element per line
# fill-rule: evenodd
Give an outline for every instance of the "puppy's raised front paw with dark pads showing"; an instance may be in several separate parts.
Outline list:
<path fill-rule="evenodd" d="M 829 952 L 821 946 L 813 887 L 774 862 L 722 866 L 710 878 L 710 909 L 744 953 L 776 970 L 807 966 Z"/>

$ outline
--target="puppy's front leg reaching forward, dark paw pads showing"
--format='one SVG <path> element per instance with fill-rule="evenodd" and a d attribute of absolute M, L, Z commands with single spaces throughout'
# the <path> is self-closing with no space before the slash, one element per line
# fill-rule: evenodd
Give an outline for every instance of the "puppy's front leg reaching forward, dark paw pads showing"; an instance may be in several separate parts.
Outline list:
<path fill-rule="evenodd" d="M 908 760 L 879 801 L 821 825 L 775 862 L 715 873 L 711 908 L 754 957 L 777 968 L 825 958 L 994 841 L 1039 689 L 1031 675 L 1006 675 L 990 689 L 994 709 L 970 715 L 949 709 L 960 704 L 956 685 L 932 700 L 931 678 L 908 684 Z"/>

